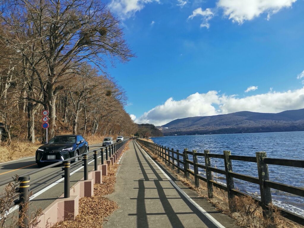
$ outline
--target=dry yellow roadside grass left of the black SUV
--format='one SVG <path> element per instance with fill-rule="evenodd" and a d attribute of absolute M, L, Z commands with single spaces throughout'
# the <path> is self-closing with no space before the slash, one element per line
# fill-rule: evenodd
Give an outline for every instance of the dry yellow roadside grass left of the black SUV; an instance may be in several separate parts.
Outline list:
<path fill-rule="evenodd" d="M 42 144 L 40 143 L 22 143 L 12 142 L 11 145 L 0 146 L 0 162 L 12 161 L 22 157 L 35 156 L 36 150 Z"/>

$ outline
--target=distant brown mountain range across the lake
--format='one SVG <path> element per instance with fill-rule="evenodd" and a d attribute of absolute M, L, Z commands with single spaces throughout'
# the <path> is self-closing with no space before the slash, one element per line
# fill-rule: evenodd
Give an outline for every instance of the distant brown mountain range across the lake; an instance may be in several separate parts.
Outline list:
<path fill-rule="evenodd" d="M 303 131 L 304 109 L 280 113 L 234 112 L 175 119 L 161 126 L 164 135 Z"/>

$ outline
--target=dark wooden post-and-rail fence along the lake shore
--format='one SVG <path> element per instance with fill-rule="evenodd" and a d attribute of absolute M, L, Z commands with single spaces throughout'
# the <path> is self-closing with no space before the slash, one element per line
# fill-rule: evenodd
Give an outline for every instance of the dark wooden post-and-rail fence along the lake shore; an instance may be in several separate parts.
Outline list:
<path fill-rule="evenodd" d="M 291 159 L 278 159 L 278 158 L 268 158 L 266 152 L 256 152 L 256 157 L 249 156 L 236 156 L 231 155 L 230 151 L 224 151 L 223 154 L 210 154 L 209 150 L 204 150 L 204 153 L 198 153 L 196 150 L 188 151 L 187 148 L 184 149 L 183 153 L 179 153 L 178 150 L 174 151 L 172 148 L 170 150 L 169 147 L 164 147 L 158 145 L 156 143 L 151 143 L 145 140 L 136 139 L 140 144 L 147 147 L 150 151 L 152 151 L 155 155 L 160 157 L 165 163 L 168 165 L 172 165 L 172 169 L 177 168 L 177 172 L 180 173 L 182 171 L 184 173 L 185 178 L 190 178 L 190 174 L 194 177 L 195 186 L 199 187 L 199 180 L 205 181 L 207 183 L 208 188 L 208 198 L 213 198 L 213 186 L 220 188 L 227 192 L 229 209 L 231 212 L 235 212 L 236 209 L 234 207 L 233 199 L 234 196 L 249 196 L 254 199 L 263 210 L 263 216 L 266 218 L 271 218 L 272 209 L 271 207 L 276 207 L 287 219 L 290 219 L 296 223 L 304 225 L 304 217 L 288 210 L 279 208 L 275 205 L 270 204 L 272 202 L 271 199 L 271 188 L 277 189 L 283 192 L 287 192 L 290 194 L 298 195 L 304 197 L 304 188 L 299 188 L 295 186 L 285 185 L 282 183 L 274 182 L 269 180 L 269 172 L 268 172 L 268 164 L 273 165 L 283 165 L 283 166 L 291 166 L 297 168 L 304 168 L 304 160 L 291 160 Z M 193 161 L 188 159 L 188 154 L 191 154 L 193 157 Z M 176 155 L 176 156 L 174 156 Z M 199 164 L 197 157 L 204 157 L 205 164 Z M 183 159 L 181 160 L 180 157 Z M 218 158 L 223 159 L 225 164 L 225 170 L 217 169 L 211 167 L 210 158 Z M 232 171 L 232 161 L 244 161 L 244 162 L 254 162 L 257 163 L 257 171 L 258 178 L 236 173 Z M 177 164 L 176 164 L 177 163 Z M 181 167 L 181 164 L 183 167 Z M 189 164 L 193 165 L 194 171 L 189 169 Z M 198 168 L 202 168 L 206 170 L 206 177 L 199 175 Z M 226 186 L 220 184 L 213 180 L 212 172 L 223 174 L 226 176 Z M 261 199 L 254 198 L 248 194 L 240 192 L 239 190 L 234 188 L 233 178 L 240 179 L 243 181 L 247 181 L 253 184 L 257 184 L 260 186 Z"/>

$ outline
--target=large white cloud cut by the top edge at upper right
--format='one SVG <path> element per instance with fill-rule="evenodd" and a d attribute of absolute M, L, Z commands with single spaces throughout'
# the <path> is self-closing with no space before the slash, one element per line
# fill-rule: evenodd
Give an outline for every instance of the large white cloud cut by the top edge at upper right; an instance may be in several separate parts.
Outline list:
<path fill-rule="evenodd" d="M 277 13 L 282 8 L 292 6 L 297 0 L 219 0 L 218 8 L 223 8 L 224 15 L 229 16 L 233 22 L 242 24 L 245 20 L 252 20 L 262 13 L 267 13 L 267 19 L 271 14 Z"/>

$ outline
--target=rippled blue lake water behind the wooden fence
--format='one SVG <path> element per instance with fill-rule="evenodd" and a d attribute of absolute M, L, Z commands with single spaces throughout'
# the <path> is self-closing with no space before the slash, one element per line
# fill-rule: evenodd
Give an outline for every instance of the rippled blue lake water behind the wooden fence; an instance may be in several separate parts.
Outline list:
<path fill-rule="evenodd" d="M 164 136 L 154 137 L 152 140 L 160 145 L 178 149 L 184 148 L 204 152 L 210 150 L 213 154 L 223 154 L 223 150 L 230 150 L 232 155 L 255 157 L 255 152 L 266 151 L 267 157 L 304 160 L 304 131 L 301 132 L 273 132 L 222 135 L 192 135 L 192 136 Z M 189 160 L 192 160 L 191 155 Z M 205 164 L 204 157 L 198 157 L 199 163 Z M 211 158 L 213 167 L 225 170 L 223 159 Z M 233 171 L 258 177 L 257 164 L 243 161 L 233 161 Z M 190 167 L 191 168 L 191 167 Z M 293 168 L 280 165 L 268 165 L 271 181 L 280 182 L 304 188 L 304 168 Z M 202 176 L 205 170 L 199 169 Z M 213 173 L 215 180 L 226 185 L 225 176 Z M 234 178 L 234 185 L 240 191 L 260 197 L 259 186 Z M 304 198 L 289 193 L 271 189 L 272 200 L 276 206 L 288 209 L 304 216 Z"/>

